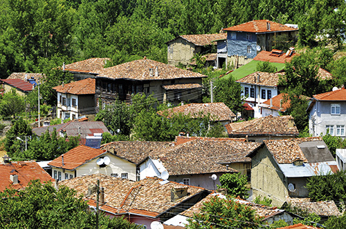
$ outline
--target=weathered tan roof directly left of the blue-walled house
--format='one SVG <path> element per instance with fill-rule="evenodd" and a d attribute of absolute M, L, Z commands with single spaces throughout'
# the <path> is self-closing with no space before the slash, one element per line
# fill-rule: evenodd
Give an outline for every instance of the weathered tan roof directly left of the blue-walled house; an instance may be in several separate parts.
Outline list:
<path fill-rule="evenodd" d="M 215 42 L 213 41 L 226 39 L 227 33 L 181 35 L 170 41 L 167 41 L 166 43 L 171 43 L 179 37 L 193 43 L 195 46 L 209 46 L 215 44 Z"/>

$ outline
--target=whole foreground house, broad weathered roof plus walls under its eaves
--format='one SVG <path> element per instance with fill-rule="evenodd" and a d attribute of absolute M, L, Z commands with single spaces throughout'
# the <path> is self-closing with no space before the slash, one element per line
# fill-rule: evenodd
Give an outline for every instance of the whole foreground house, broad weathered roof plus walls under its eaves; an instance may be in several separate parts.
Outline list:
<path fill-rule="evenodd" d="M 99 174 L 76 177 L 60 184 L 75 189 L 76 196 L 82 195 L 91 210 L 95 210 L 96 195 L 90 190 L 98 180 L 100 210 L 111 218 L 122 216 L 145 228 L 151 228 L 153 221 L 165 221 L 174 217 L 210 193 L 204 188 L 163 181 L 157 177 L 134 182 Z"/>

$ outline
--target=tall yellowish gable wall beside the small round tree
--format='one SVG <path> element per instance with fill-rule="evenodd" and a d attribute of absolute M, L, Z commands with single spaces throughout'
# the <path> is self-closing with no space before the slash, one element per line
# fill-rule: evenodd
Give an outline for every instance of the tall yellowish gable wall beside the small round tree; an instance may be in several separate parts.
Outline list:
<path fill-rule="evenodd" d="M 251 188 L 253 199 L 258 196 L 273 200 L 273 206 L 281 207 L 289 195 L 287 179 L 275 163 L 266 147 L 251 159 Z"/>

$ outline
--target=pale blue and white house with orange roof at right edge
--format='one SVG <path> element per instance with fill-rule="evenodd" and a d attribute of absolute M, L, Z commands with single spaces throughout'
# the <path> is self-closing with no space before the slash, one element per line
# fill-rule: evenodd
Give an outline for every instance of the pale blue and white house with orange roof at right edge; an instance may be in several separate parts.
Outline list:
<path fill-rule="evenodd" d="M 312 136 L 329 135 L 345 139 L 346 90 L 334 88 L 331 92 L 313 95 L 307 108 L 309 133 Z"/>

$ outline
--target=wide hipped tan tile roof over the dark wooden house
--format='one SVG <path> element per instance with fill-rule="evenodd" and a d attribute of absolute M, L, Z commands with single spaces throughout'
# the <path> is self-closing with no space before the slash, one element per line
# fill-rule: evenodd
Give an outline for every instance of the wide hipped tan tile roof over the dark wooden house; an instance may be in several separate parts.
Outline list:
<path fill-rule="evenodd" d="M 138 59 L 127 63 L 122 63 L 110 68 L 98 71 L 97 77 L 111 79 L 132 79 L 132 80 L 163 80 L 163 79 L 182 79 L 182 78 L 203 78 L 203 74 L 191 72 L 169 66 L 165 63 L 147 59 Z"/>

